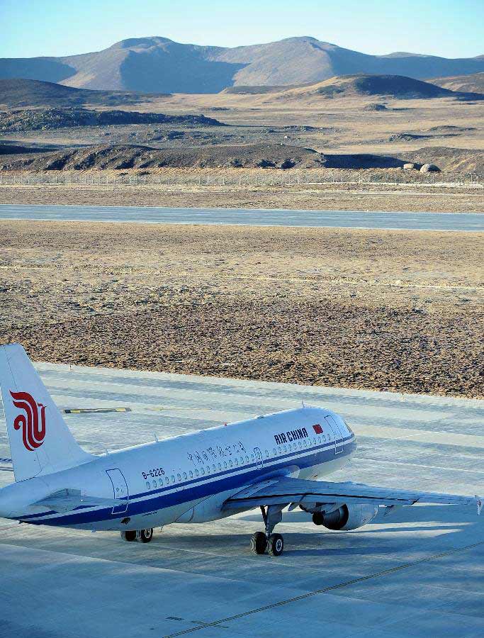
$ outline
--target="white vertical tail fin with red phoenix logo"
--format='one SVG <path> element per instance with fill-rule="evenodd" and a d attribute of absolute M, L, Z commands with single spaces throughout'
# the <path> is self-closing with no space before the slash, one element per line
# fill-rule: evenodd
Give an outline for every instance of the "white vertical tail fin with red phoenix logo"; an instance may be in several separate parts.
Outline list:
<path fill-rule="evenodd" d="M 20 344 L 0 346 L 0 388 L 16 481 L 91 458 L 74 440 Z"/>

